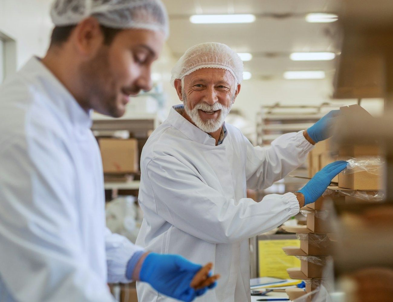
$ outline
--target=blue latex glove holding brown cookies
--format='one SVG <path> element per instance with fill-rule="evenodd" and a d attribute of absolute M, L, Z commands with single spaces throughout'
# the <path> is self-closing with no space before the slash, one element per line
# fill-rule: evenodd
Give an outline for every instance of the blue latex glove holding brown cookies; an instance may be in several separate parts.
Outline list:
<path fill-rule="evenodd" d="M 202 265 L 189 262 L 179 255 L 150 253 L 143 261 L 139 278 L 159 293 L 182 301 L 192 301 L 206 293 L 208 288 L 217 285 L 215 282 L 197 291 L 190 287 L 191 280 L 201 268 Z"/>

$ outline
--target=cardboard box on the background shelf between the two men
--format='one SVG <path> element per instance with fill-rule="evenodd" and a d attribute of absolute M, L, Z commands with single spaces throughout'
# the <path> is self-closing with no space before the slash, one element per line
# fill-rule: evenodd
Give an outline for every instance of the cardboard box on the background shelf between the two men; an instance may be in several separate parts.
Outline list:
<path fill-rule="evenodd" d="M 136 139 L 99 139 L 104 173 L 135 173 L 139 170 Z"/>

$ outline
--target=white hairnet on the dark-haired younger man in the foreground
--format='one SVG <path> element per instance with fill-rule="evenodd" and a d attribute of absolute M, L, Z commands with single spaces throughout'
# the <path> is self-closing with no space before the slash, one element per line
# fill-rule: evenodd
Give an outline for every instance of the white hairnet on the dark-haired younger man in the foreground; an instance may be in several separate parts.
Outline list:
<path fill-rule="evenodd" d="M 78 24 L 94 16 L 110 28 L 143 28 L 169 34 L 168 15 L 161 0 L 55 0 L 51 7 L 55 26 Z"/>

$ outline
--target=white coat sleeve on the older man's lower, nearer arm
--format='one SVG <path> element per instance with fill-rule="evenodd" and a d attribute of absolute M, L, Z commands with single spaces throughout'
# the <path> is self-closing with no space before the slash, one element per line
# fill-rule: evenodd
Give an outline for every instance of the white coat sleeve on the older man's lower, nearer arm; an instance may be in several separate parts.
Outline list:
<path fill-rule="evenodd" d="M 154 157 L 147 164 L 156 213 L 188 234 L 211 243 L 232 243 L 274 229 L 299 212 L 292 193 L 270 194 L 259 203 L 227 199 L 209 187 L 173 156 Z M 151 201 L 149 201 L 151 202 Z"/>

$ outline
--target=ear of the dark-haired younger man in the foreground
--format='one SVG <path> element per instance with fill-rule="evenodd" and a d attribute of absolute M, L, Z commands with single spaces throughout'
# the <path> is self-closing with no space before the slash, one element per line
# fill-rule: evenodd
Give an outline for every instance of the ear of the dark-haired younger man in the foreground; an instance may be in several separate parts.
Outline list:
<path fill-rule="evenodd" d="M 101 27 L 94 17 L 80 22 L 72 33 L 73 45 L 86 57 L 93 57 L 104 41 Z"/>

